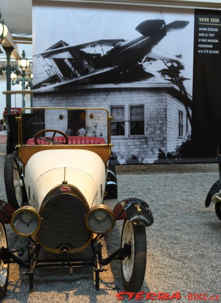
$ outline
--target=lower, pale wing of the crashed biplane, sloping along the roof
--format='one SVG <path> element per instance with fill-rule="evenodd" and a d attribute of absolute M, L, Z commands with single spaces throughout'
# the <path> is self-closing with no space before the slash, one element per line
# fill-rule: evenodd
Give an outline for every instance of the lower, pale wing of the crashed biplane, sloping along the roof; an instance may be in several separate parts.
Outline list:
<path fill-rule="evenodd" d="M 87 75 L 83 75 L 83 76 L 80 76 L 80 77 L 64 80 L 62 82 L 57 82 L 57 83 L 45 85 L 45 86 L 42 86 L 40 88 L 35 88 L 35 89 L 33 88 L 33 92 L 45 91 L 45 90 L 53 89 L 53 88 L 56 88 L 56 87 L 59 87 L 59 86 L 65 85 L 65 84 L 71 84 L 73 82 L 76 82 L 76 81 L 84 79 L 84 78 L 89 78 L 89 77 L 92 77 L 92 76 L 95 76 L 95 75 L 98 75 L 98 74 L 101 74 L 101 73 L 104 73 L 104 72 L 111 71 L 111 70 L 113 70 L 117 67 L 118 66 L 113 66 L 113 67 L 102 68 L 102 69 L 99 69 L 99 70 L 98 69 L 93 70 L 93 72 L 90 72 Z"/>

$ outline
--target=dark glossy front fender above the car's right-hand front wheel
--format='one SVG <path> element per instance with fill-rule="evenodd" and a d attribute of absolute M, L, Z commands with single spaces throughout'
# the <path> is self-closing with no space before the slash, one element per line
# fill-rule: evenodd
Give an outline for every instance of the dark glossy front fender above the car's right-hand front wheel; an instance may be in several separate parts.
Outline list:
<path fill-rule="evenodd" d="M 128 218 L 133 224 L 150 226 L 153 215 L 148 204 L 139 198 L 128 198 L 119 202 L 113 210 L 116 220 Z"/>

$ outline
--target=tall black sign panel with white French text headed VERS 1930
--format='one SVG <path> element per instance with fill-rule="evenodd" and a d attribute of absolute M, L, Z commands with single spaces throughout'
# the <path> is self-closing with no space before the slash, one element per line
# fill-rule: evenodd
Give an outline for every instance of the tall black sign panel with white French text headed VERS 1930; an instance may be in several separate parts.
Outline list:
<path fill-rule="evenodd" d="M 192 144 L 195 157 L 214 157 L 221 145 L 221 14 L 196 10 Z"/>

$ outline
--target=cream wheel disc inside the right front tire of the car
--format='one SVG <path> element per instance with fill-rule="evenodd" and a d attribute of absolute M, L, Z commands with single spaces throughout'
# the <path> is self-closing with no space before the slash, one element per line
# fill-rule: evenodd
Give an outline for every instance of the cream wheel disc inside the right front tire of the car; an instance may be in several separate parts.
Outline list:
<path fill-rule="evenodd" d="M 125 243 L 131 246 L 131 255 L 122 260 L 122 271 L 125 280 L 129 282 L 134 268 L 134 231 L 129 220 L 124 225 L 121 246 L 124 247 Z"/>

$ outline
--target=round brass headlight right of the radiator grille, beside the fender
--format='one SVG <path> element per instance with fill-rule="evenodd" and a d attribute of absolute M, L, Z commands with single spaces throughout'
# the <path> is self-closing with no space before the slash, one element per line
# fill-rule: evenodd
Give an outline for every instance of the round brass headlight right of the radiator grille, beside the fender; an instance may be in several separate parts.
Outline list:
<path fill-rule="evenodd" d="M 115 225 L 115 215 L 108 206 L 103 204 L 97 205 L 87 213 L 86 225 L 94 233 L 107 233 Z"/>

